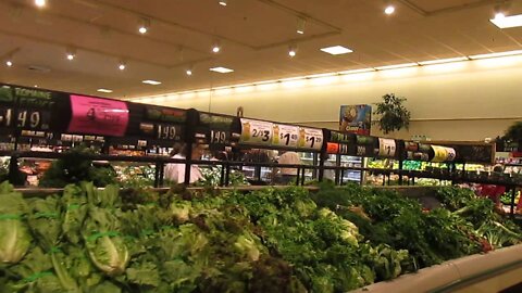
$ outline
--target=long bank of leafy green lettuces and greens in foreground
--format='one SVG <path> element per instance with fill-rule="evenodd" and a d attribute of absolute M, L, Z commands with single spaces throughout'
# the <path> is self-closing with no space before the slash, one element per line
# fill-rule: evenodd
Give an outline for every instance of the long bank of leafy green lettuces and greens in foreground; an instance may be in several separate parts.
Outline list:
<path fill-rule="evenodd" d="M 346 292 L 522 240 L 457 188 L 433 211 L 359 186 L 0 193 L 0 292 Z"/>

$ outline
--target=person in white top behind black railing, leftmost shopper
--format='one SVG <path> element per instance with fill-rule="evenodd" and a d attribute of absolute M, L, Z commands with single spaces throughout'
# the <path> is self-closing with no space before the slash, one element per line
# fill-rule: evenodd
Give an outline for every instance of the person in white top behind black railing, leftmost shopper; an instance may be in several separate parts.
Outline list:
<path fill-rule="evenodd" d="M 178 150 L 178 152 L 172 156 L 172 158 L 185 160 L 187 157 L 188 148 L 186 144 L 174 145 L 173 152 Z M 191 160 L 201 160 L 204 148 L 201 144 L 192 144 L 192 152 L 190 154 Z M 172 153 L 171 153 L 172 154 Z M 169 163 L 165 166 L 165 179 L 175 182 L 183 183 L 185 182 L 185 165 L 183 163 Z M 201 170 L 196 164 L 190 165 L 190 179 L 189 183 L 194 183 L 202 178 Z"/>

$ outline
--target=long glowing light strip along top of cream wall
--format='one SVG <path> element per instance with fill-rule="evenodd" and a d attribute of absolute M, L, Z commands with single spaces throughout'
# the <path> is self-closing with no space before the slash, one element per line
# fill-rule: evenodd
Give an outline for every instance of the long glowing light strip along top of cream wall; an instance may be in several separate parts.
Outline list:
<path fill-rule="evenodd" d="M 271 79 L 271 80 L 261 80 L 241 85 L 233 85 L 233 86 L 224 86 L 219 88 L 207 88 L 207 89 L 198 89 L 198 90 L 188 90 L 188 91 L 181 91 L 174 92 L 169 95 L 184 95 L 184 94 L 196 94 L 200 92 L 213 92 L 216 90 L 223 89 L 235 89 L 240 87 L 256 87 L 256 86 L 263 86 L 263 85 L 276 85 L 287 81 L 295 81 L 295 80 L 306 80 L 306 79 L 315 79 L 315 78 L 324 78 L 324 77 L 333 77 L 333 76 L 346 76 L 346 75 L 355 75 L 355 74 L 363 74 L 363 73 L 373 73 L 373 72 L 383 72 L 383 71 L 394 71 L 394 69 L 401 69 L 401 68 L 411 68 L 411 67 L 420 67 L 420 66 L 430 66 L 430 65 L 438 65 L 438 64 L 449 64 L 449 63 L 459 63 L 464 61 L 475 61 L 482 59 L 494 59 L 494 58 L 505 58 L 505 56 L 514 56 L 514 55 L 522 55 L 522 50 L 514 50 L 514 51 L 505 51 L 505 52 L 495 52 L 495 53 L 486 53 L 486 54 L 477 54 L 477 55 L 469 55 L 469 56 L 457 56 L 457 58 L 449 58 L 449 59 L 436 59 L 436 60 L 427 60 L 421 62 L 411 62 L 411 63 L 403 63 L 403 64 L 394 64 L 394 65 L 386 65 L 386 66 L 376 66 L 376 67 L 368 67 L 368 68 L 360 68 L 360 69 L 350 69 L 344 72 L 332 72 L 332 73 L 324 73 L 324 74 L 315 74 L 315 75 L 306 75 L 306 76 L 298 76 L 298 77 L 290 77 L 290 78 L 281 78 L 281 79 Z M 149 98 L 136 98 L 136 101 L 144 101 L 144 100 L 154 100 L 156 98 L 165 98 L 165 94 L 161 97 L 149 97 Z"/>

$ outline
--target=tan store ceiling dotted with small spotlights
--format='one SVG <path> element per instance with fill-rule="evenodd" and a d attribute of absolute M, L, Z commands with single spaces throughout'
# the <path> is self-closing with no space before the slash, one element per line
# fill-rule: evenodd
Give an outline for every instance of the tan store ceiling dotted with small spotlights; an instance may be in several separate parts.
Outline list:
<path fill-rule="evenodd" d="M 384 0 L 47 0 L 40 9 L 34 0 L 2 0 L 0 81 L 130 98 L 522 49 L 522 28 L 488 21 L 498 3 L 522 13 L 522 1 L 393 2 L 396 12 L 386 15 Z M 149 30 L 140 35 L 144 22 Z M 219 54 L 211 51 L 216 41 Z M 298 48 L 293 59 L 290 44 Z M 355 52 L 319 50 L 336 44 Z M 12 67 L 4 65 L 10 55 Z M 215 66 L 235 72 L 209 72 Z"/>

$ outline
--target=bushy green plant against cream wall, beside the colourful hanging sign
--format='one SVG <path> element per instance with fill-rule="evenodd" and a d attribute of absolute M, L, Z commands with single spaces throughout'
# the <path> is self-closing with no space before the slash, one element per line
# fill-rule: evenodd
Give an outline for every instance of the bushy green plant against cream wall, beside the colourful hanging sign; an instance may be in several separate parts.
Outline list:
<path fill-rule="evenodd" d="M 380 116 L 376 124 L 385 135 L 409 128 L 411 113 L 403 105 L 406 101 L 406 98 L 397 97 L 395 93 L 386 93 L 383 95 L 383 102 L 375 104 L 377 110 L 374 114 Z"/>

